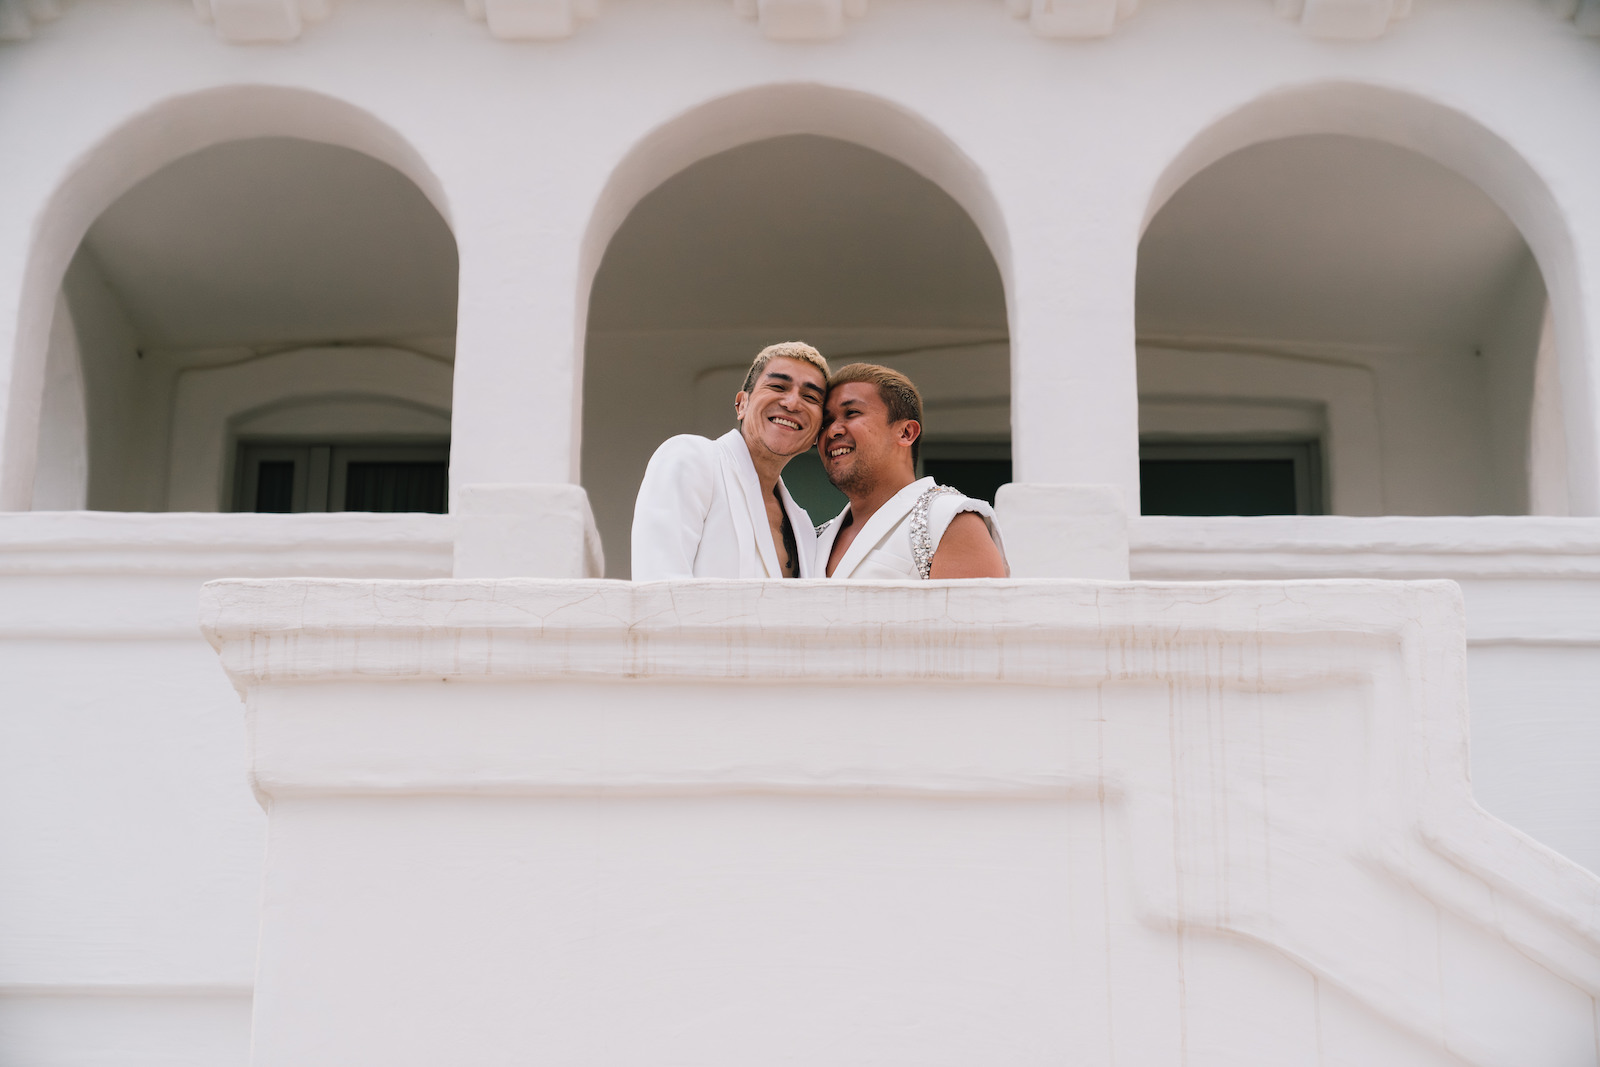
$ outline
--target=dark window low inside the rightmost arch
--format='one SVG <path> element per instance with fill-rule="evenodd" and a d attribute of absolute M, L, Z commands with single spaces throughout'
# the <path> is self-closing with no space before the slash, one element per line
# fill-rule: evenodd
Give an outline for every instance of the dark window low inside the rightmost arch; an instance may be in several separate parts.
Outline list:
<path fill-rule="evenodd" d="M 1139 448 L 1144 515 L 1320 515 L 1315 442 L 1162 442 Z"/>

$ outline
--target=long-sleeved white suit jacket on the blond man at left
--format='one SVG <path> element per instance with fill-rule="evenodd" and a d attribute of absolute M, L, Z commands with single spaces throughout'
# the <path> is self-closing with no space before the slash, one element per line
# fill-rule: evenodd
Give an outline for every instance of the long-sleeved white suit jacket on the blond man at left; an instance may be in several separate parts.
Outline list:
<path fill-rule="evenodd" d="M 800 577 L 811 577 L 811 517 L 782 478 L 778 493 L 795 531 Z M 762 483 L 739 430 L 714 442 L 693 434 L 667 438 L 650 458 L 634 502 L 634 581 L 782 576 Z"/>

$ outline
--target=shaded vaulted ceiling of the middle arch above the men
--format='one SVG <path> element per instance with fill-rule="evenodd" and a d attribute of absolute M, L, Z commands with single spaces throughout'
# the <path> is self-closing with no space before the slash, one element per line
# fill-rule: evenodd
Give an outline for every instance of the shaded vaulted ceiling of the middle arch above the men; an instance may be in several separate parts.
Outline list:
<path fill-rule="evenodd" d="M 1005 333 L 1005 293 L 965 211 L 854 144 L 774 138 L 702 160 L 629 214 L 590 330 L 966 326 Z"/>

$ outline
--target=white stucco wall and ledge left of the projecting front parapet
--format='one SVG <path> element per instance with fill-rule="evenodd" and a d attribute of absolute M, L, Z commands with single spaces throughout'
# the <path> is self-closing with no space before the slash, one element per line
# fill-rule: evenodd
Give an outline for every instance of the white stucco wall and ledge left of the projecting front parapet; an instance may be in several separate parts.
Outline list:
<path fill-rule="evenodd" d="M 450 573 L 434 515 L 0 523 L 0 1059 L 245 1064 L 264 822 L 210 577 Z"/>

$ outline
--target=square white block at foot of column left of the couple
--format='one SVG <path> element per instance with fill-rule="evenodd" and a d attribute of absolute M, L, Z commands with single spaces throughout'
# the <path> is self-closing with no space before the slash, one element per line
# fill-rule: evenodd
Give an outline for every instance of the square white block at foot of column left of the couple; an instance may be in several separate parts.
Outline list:
<path fill-rule="evenodd" d="M 456 577 L 603 577 L 589 494 L 576 485 L 464 485 L 451 493 Z"/>

